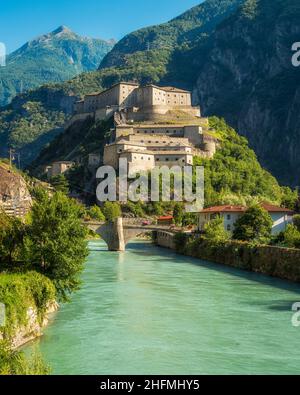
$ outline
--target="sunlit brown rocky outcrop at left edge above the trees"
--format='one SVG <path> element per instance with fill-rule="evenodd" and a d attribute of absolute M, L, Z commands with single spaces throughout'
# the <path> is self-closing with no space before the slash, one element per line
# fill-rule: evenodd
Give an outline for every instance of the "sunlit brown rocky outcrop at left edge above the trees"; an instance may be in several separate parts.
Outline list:
<path fill-rule="evenodd" d="M 23 177 L 0 163 L 0 209 L 22 216 L 32 206 L 32 199 Z"/>

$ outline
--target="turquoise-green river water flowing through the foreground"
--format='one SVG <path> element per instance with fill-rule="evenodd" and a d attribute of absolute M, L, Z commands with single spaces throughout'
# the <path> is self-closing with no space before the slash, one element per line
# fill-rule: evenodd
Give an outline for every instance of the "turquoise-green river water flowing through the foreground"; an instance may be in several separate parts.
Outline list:
<path fill-rule="evenodd" d="M 300 373 L 300 287 L 145 242 L 90 242 L 83 286 L 37 348 L 53 374 Z"/>

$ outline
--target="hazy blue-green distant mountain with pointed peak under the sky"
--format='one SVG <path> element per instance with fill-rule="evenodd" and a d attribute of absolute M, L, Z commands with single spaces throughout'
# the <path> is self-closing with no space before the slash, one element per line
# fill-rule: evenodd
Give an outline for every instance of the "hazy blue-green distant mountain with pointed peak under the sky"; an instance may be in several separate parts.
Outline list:
<path fill-rule="evenodd" d="M 27 42 L 0 67 L 0 106 L 16 94 L 97 69 L 114 41 L 81 37 L 65 26 Z"/>

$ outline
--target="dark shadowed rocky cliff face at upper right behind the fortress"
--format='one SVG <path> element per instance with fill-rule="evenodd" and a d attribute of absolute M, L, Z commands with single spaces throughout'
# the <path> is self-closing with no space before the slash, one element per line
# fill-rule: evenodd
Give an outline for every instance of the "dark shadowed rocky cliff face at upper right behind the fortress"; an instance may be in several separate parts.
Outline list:
<path fill-rule="evenodd" d="M 204 115 L 224 116 L 284 184 L 299 185 L 300 69 L 291 47 L 300 40 L 300 4 L 248 0 L 215 32 L 197 70 Z"/>

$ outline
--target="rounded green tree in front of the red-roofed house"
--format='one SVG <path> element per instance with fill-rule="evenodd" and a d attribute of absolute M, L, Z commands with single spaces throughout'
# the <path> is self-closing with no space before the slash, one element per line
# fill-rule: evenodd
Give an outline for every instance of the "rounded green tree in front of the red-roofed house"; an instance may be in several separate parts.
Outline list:
<path fill-rule="evenodd" d="M 269 213 L 260 206 L 252 206 L 237 220 L 233 238 L 267 243 L 271 239 L 272 226 Z"/>

